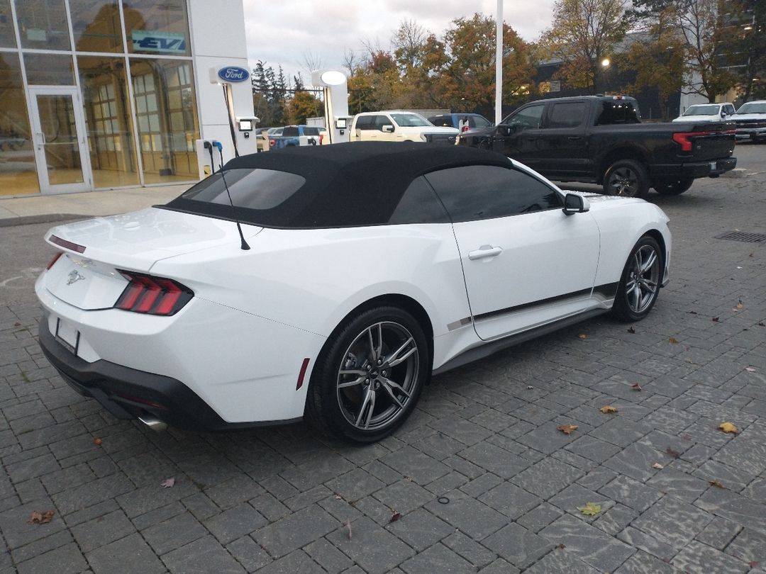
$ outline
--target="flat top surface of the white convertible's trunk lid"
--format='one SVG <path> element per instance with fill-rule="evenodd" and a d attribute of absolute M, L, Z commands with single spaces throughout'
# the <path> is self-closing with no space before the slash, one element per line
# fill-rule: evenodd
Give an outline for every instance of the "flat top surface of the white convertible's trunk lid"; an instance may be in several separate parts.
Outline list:
<path fill-rule="evenodd" d="M 242 225 L 247 238 L 262 229 Z M 62 245 L 63 242 L 52 239 L 54 236 L 84 249 Z M 232 221 L 157 207 L 59 225 L 46 233 L 45 240 L 75 256 L 142 272 L 148 272 L 160 259 L 214 246 L 231 245 L 239 249 L 241 245 Z"/>

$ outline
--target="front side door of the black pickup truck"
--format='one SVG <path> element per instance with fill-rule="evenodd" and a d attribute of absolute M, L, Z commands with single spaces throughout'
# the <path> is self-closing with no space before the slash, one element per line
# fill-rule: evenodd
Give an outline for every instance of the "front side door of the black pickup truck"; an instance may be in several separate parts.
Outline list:
<path fill-rule="evenodd" d="M 544 111 L 544 102 L 535 103 L 503 120 L 495 130 L 495 151 L 535 169 L 540 164 L 538 139 Z"/>

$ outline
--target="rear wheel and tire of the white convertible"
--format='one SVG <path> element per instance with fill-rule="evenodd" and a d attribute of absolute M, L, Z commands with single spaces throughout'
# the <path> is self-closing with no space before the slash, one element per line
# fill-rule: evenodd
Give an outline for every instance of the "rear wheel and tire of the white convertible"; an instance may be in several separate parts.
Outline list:
<path fill-rule="evenodd" d="M 389 306 L 362 311 L 333 331 L 322 349 L 306 418 L 326 434 L 378 441 L 410 416 L 430 370 L 429 347 L 412 315 Z"/>

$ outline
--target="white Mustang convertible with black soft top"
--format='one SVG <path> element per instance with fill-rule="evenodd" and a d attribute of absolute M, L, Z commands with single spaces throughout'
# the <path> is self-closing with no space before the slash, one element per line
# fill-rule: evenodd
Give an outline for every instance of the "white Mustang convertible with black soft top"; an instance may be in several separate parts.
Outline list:
<path fill-rule="evenodd" d="M 118 418 L 224 429 L 305 413 L 372 442 L 431 373 L 608 311 L 646 317 L 668 281 L 667 222 L 456 145 L 246 155 L 168 204 L 51 229 L 39 341 Z"/>

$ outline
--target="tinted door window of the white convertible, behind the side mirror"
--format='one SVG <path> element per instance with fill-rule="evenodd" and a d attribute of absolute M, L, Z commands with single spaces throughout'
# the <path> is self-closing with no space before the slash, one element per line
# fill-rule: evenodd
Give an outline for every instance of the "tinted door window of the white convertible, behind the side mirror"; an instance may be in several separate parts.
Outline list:
<path fill-rule="evenodd" d="M 542 181 L 514 168 L 470 165 L 425 176 L 453 223 L 558 209 L 561 196 Z"/>

